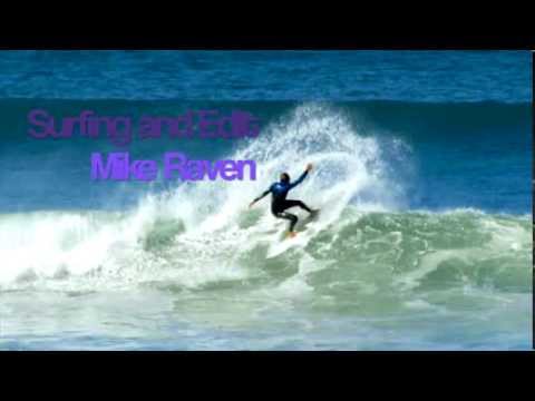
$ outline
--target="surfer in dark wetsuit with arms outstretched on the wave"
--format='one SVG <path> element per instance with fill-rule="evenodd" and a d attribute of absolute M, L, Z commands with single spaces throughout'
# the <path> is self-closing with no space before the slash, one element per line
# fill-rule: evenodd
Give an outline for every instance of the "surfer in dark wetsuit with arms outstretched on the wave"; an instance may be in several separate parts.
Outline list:
<path fill-rule="evenodd" d="M 309 172 L 312 169 L 312 165 L 309 164 L 307 165 L 307 168 L 304 169 L 303 174 L 293 183 L 290 183 L 290 175 L 288 173 L 282 173 L 281 174 L 281 180 L 279 183 L 273 183 L 268 190 L 265 190 L 262 195 L 260 195 L 257 198 L 255 198 L 249 207 L 252 207 L 256 202 L 262 199 L 264 196 L 271 193 L 271 213 L 273 216 L 276 218 L 284 218 L 290 221 L 290 227 L 288 231 L 288 236 L 294 237 L 296 233 L 293 231 L 295 227 L 295 224 L 298 223 L 298 216 L 294 214 L 285 212 L 288 208 L 298 206 L 301 207 L 302 209 L 309 212 L 311 215 L 318 213 L 317 209 L 311 209 L 309 206 L 307 206 L 301 200 L 292 200 L 292 199 L 286 199 L 286 195 L 290 192 L 290 189 L 296 187 L 299 184 L 303 182 L 303 179 L 307 177 Z"/>

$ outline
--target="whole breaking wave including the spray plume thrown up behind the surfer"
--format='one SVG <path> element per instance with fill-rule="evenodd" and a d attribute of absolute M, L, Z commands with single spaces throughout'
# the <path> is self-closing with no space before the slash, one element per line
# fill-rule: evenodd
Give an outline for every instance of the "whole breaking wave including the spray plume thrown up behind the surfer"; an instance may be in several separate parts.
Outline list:
<path fill-rule="evenodd" d="M 181 185 L 116 213 L 0 215 L 0 288 L 245 286 L 315 293 L 340 304 L 466 285 L 529 292 L 529 219 L 406 211 L 407 153 L 400 140 L 359 136 L 329 107 L 301 106 L 234 150 L 234 158 L 262 164 L 257 182 Z M 285 222 L 266 204 L 246 206 L 281 169 L 298 175 L 305 163 L 317 170 L 295 196 L 320 207 L 320 218 L 299 235 L 299 246 L 269 257 Z"/>

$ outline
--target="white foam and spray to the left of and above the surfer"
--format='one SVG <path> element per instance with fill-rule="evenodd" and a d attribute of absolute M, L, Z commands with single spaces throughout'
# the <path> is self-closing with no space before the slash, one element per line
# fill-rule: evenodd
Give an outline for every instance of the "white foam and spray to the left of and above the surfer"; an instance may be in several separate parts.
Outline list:
<path fill-rule="evenodd" d="M 165 196 L 146 196 L 123 214 L 36 212 L 0 216 L 0 286 L 45 281 L 65 287 L 75 285 L 76 277 L 84 277 L 89 286 L 152 280 L 195 286 L 246 277 L 254 273 L 240 265 L 239 256 L 268 244 L 272 233 L 286 224 L 271 216 L 268 199 L 255 211 L 249 211 L 247 205 L 283 170 L 295 179 L 305 164 L 314 165 L 290 196 L 322 208 L 313 235 L 335 222 L 349 203 L 367 211 L 396 205 L 397 195 L 387 190 L 389 179 L 379 143 L 359 134 L 340 113 L 304 105 L 232 155 L 257 163 L 256 182 L 189 183 Z M 362 192 L 368 194 L 366 199 L 359 198 Z M 260 221 L 244 228 L 240 222 L 250 213 L 260 214 Z M 165 255 L 147 251 L 143 244 L 160 218 L 179 219 L 185 226 L 184 233 L 171 238 Z"/>

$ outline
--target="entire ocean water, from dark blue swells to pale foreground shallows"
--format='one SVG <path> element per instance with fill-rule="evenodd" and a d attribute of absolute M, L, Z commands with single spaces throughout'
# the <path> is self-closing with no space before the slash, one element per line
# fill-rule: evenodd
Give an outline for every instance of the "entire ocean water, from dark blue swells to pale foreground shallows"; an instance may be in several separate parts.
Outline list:
<path fill-rule="evenodd" d="M 0 350 L 532 348 L 532 61 L 513 51 L 0 51 Z M 257 180 L 91 182 L 60 118 L 247 110 Z M 282 170 L 321 208 L 247 205 Z M 296 212 L 304 217 L 301 212 Z"/>

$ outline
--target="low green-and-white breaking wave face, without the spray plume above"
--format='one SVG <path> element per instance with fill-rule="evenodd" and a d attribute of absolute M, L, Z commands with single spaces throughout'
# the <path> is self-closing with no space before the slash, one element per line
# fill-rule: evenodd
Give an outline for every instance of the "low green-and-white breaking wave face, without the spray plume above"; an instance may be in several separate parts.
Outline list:
<path fill-rule="evenodd" d="M 331 223 L 275 257 L 282 224 L 251 213 L 234 228 L 196 234 L 156 204 L 136 214 L 35 213 L 0 218 L 0 288 L 109 290 L 150 284 L 289 285 L 331 295 L 473 285 L 529 292 L 527 217 L 476 211 L 361 212 Z M 318 274 L 322 271 L 321 274 Z M 313 274 L 311 274 L 313 273 Z M 308 275 L 311 274 L 311 277 Z"/>

